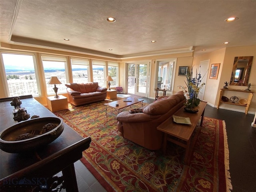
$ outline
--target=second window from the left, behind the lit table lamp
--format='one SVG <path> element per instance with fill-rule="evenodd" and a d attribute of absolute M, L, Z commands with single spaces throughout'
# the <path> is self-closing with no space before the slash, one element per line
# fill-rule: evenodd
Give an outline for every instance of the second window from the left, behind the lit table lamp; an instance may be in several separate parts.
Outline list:
<path fill-rule="evenodd" d="M 47 84 L 51 76 L 57 76 L 60 82 L 62 83 L 56 85 L 58 87 L 58 93 L 66 93 L 66 58 L 42 55 L 42 62 L 44 67 L 44 78 L 46 81 L 47 94 L 55 94 L 53 90 L 54 86 Z"/>

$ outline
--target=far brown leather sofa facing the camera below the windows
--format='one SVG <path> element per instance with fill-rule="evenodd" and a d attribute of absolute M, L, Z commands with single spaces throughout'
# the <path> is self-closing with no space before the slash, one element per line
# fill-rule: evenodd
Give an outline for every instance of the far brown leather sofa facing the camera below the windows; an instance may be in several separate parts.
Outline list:
<path fill-rule="evenodd" d="M 106 99 L 107 88 L 98 86 L 98 82 L 65 84 L 69 102 L 75 106 Z"/>

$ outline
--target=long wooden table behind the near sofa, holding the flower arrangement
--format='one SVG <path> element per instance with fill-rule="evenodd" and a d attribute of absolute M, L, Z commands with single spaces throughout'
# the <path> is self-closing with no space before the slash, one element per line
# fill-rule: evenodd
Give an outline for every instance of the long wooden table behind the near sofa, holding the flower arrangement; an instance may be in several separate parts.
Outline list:
<path fill-rule="evenodd" d="M 188 164 L 191 149 L 194 147 L 194 140 L 192 138 L 192 133 L 196 128 L 198 120 L 202 116 L 202 120 L 200 126 L 202 126 L 203 119 L 204 119 L 204 109 L 207 102 L 200 102 L 198 105 L 198 112 L 197 113 L 188 113 L 184 110 L 184 107 L 180 108 L 177 112 L 173 115 L 180 116 L 180 117 L 189 117 L 190 124 L 178 124 L 173 121 L 173 117 L 170 116 L 167 120 L 165 120 L 162 124 L 160 124 L 157 129 L 164 132 L 164 141 L 163 141 L 163 152 L 166 153 L 166 142 L 167 140 L 173 142 L 179 146 L 186 148 L 186 153 L 184 157 L 184 164 Z M 198 132 L 196 133 L 198 134 Z"/>

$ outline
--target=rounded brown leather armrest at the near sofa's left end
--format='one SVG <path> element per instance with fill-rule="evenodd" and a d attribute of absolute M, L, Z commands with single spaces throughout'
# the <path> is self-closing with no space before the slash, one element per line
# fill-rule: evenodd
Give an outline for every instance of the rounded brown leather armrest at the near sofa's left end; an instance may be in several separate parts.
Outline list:
<path fill-rule="evenodd" d="M 151 121 L 152 119 L 157 119 L 161 115 L 149 115 L 145 113 L 130 113 L 128 111 L 124 111 L 119 113 L 116 116 L 116 119 L 119 122 L 129 122 L 129 123 L 136 123 L 136 122 L 147 122 Z"/>

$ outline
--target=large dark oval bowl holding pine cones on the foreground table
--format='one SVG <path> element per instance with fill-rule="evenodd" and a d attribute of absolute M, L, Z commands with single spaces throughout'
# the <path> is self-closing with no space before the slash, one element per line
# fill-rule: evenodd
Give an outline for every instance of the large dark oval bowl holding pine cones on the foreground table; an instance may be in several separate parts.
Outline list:
<path fill-rule="evenodd" d="M 42 127 L 48 123 L 56 127 L 40 134 Z M 6 128 L 0 133 L 0 148 L 8 153 L 22 153 L 35 150 L 53 142 L 64 130 L 63 120 L 59 117 L 42 117 L 26 120 Z M 30 133 L 32 138 L 16 140 L 20 134 Z"/>

